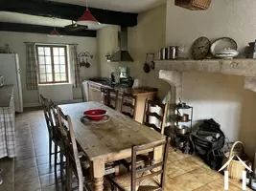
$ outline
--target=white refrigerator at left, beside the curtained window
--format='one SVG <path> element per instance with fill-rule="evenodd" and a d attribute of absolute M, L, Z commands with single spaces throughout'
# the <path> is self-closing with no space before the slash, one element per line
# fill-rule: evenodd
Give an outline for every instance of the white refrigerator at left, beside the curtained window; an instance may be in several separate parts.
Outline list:
<path fill-rule="evenodd" d="M 23 112 L 22 88 L 18 54 L 0 53 L 0 75 L 4 76 L 5 85 L 14 85 L 15 111 Z"/>

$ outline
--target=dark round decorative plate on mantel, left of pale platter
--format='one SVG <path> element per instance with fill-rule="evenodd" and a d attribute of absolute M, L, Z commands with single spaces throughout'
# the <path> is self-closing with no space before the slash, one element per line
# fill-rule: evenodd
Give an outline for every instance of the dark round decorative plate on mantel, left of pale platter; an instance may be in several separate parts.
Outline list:
<path fill-rule="evenodd" d="M 192 45 L 191 52 L 194 59 L 204 59 L 210 50 L 210 40 L 204 36 L 199 37 Z"/>

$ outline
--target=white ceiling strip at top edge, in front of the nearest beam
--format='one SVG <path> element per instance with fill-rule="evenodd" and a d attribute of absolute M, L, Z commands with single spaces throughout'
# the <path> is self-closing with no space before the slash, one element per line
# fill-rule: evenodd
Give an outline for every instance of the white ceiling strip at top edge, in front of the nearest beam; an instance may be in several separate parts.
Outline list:
<path fill-rule="evenodd" d="M 85 6 L 86 0 L 51 0 Z M 110 11 L 135 12 L 147 11 L 166 3 L 166 0 L 88 0 L 88 6 Z"/>

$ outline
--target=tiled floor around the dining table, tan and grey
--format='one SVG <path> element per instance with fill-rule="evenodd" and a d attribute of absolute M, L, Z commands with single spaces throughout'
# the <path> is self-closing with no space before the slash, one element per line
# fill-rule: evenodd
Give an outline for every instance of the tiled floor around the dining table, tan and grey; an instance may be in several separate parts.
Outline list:
<path fill-rule="evenodd" d="M 29 110 L 16 117 L 15 159 L 0 159 L 4 183 L 0 191 L 60 191 L 59 172 L 49 165 L 48 131 L 41 110 Z M 166 190 L 222 191 L 223 177 L 200 159 L 170 149 Z M 230 180 L 229 190 L 242 190 L 241 182 Z M 249 189 L 248 189 L 249 190 Z"/>

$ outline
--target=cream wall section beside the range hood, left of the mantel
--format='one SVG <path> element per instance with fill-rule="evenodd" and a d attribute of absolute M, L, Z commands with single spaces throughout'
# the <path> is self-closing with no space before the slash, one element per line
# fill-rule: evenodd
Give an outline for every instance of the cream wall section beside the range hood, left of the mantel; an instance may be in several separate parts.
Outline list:
<path fill-rule="evenodd" d="M 151 70 L 149 74 L 143 71 L 147 53 L 155 53 L 165 46 L 166 39 L 166 5 L 138 15 L 138 25 L 128 30 L 128 52 L 134 59 L 127 64 L 131 75 L 140 80 L 141 86 L 158 88 L 158 96 L 163 98 L 170 90 L 170 85 L 159 79 L 159 72 Z"/>

